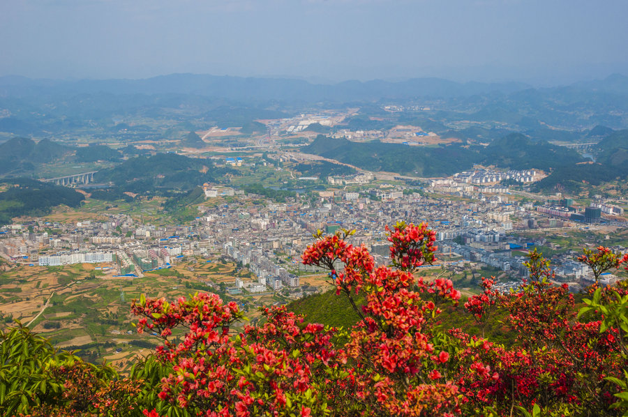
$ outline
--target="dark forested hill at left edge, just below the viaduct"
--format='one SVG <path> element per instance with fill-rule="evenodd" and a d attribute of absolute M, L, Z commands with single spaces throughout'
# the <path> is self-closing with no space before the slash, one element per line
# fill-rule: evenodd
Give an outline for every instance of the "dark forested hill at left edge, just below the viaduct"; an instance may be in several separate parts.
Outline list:
<path fill-rule="evenodd" d="M 0 225 L 10 224 L 18 215 L 43 215 L 59 204 L 80 206 L 83 195 L 72 188 L 32 179 L 10 179 L 1 181 L 6 187 L 0 192 Z"/>

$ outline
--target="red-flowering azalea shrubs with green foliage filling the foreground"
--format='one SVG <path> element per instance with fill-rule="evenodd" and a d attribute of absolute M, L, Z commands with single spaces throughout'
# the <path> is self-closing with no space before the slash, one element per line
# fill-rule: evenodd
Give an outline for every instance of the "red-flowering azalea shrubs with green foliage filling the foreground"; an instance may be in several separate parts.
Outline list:
<path fill-rule="evenodd" d="M 387 230 L 390 266 L 375 266 L 364 246 L 347 243 L 350 231 L 319 232 L 303 255 L 305 264 L 329 270 L 336 294 L 359 317 L 352 328 L 308 323 L 283 306 L 264 309 L 262 324 L 237 333 L 234 324 L 245 319 L 239 306 L 215 294 L 174 303 L 142 296 L 131 306 L 137 331 L 162 342 L 126 379 L 54 351 L 27 329 L 1 333 L 0 411 L 57 417 L 628 412 L 624 285 L 594 285 L 587 291 L 592 298 L 580 301 L 553 282 L 549 262 L 534 250 L 528 280 L 514 291 L 502 294 L 493 278 L 483 278 L 481 294 L 462 310 L 481 326 L 481 334 L 469 334 L 442 326 L 444 310 L 461 299 L 451 280 L 415 276 L 435 261 L 434 232 L 403 222 Z M 580 260 L 597 280 L 628 255 L 600 247 Z M 485 338 L 494 326 L 508 332 L 507 344 Z M 33 369 L 39 374 L 31 376 Z"/>

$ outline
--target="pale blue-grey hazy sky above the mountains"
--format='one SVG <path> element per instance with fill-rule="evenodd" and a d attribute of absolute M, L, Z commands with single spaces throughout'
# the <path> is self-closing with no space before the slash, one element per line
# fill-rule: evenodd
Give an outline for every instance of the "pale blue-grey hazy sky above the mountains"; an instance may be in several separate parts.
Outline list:
<path fill-rule="evenodd" d="M 0 0 L 0 75 L 628 74 L 628 0 Z"/>

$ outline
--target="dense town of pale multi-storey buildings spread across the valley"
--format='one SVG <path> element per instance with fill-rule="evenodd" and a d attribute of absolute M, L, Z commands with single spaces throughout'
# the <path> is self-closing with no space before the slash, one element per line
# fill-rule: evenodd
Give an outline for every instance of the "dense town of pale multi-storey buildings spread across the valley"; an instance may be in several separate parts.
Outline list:
<path fill-rule="evenodd" d="M 102 222 L 33 221 L 0 228 L 0 255 L 22 261 L 28 257 L 33 263 L 38 261 L 47 266 L 103 262 L 111 264 L 120 275 L 139 275 L 187 256 L 226 255 L 248 265 L 255 275 L 238 278 L 235 290 L 254 294 L 281 290 L 295 295 L 302 294 L 300 275 L 320 272 L 319 268 L 305 266 L 300 261 L 317 229 L 326 233 L 340 228 L 354 229 L 349 243 L 366 245 L 376 264 L 387 264 L 389 243 L 384 227 L 399 220 L 428 222 L 437 232 L 440 253 L 445 255 L 444 267 L 457 268 L 460 262 L 477 262 L 518 275 L 525 274 L 526 259 L 521 256 L 521 250 L 548 244 L 540 239 L 518 237 L 521 236 L 518 232 L 538 227 L 578 229 L 585 226 L 572 220 L 595 224 L 601 219 L 601 207 L 577 211 L 571 200 L 545 206 L 511 202 L 499 195 L 502 189 L 498 185 L 482 188 L 442 179 L 434 180 L 430 189 L 454 184 L 470 187 L 470 199 L 461 201 L 430 192 L 404 190 L 401 185 L 380 185 L 363 186 L 359 191 L 324 190 L 318 192 L 317 199 L 297 196 L 288 197 L 285 203 L 258 204 L 259 196 L 206 184 L 206 195 L 216 190 L 215 195 L 211 193 L 211 198 L 217 199 L 216 204 L 200 206 L 197 219 L 188 225 L 157 226 L 121 214 L 110 215 Z M 227 190 L 233 194 L 227 194 Z M 487 196 L 491 192 L 495 195 Z M 226 195 L 239 196 L 220 199 Z M 556 260 L 561 280 L 588 279 L 587 271 L 578 264 Z"/>

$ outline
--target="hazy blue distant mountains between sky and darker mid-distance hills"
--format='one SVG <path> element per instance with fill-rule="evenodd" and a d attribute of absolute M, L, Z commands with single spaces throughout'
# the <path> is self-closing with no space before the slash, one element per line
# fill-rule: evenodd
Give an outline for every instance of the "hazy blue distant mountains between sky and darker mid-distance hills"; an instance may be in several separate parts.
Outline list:
<path fill-rule="evenodd" d="M 404 105 L 404 112 L 382 108 L 391 103 Z M 169 139 L 211 126 L 264 132 L 256 120 L 347 107 L 359 108 L 345 121 L 351 130 L 412 124 L 470 142 L 491 142 L 509 132 L 574 142 L 596 125 L 628 128 L 628 77 L 543 89 L 439 78 L 312 84 L 191 74 L 79 81 L 0 77 L 0 132 L 29 137 L 80 131 L 96 141 L 114 136 L 126 142 L 163 138 L 166 125 L 172 128 Z"/>

